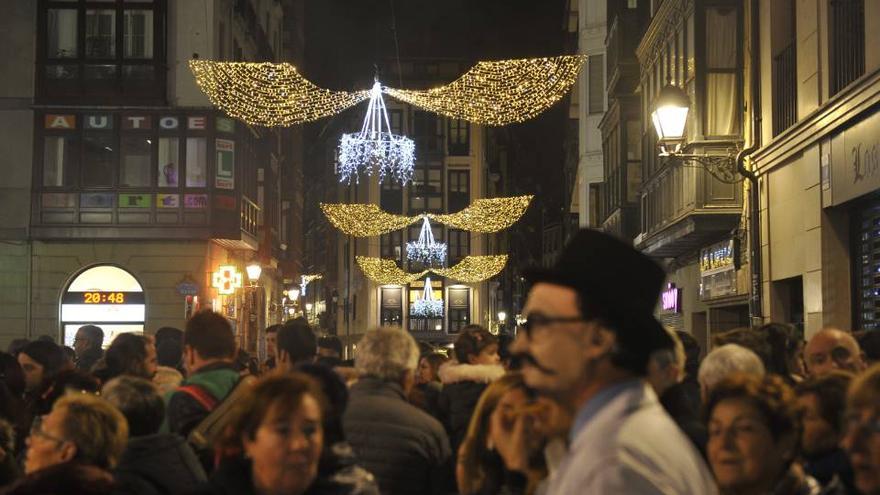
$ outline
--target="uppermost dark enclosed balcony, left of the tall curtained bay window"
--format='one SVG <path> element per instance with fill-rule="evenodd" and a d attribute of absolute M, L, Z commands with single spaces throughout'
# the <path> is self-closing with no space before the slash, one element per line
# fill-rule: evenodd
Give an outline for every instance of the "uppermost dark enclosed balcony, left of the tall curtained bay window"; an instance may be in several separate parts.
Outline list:
<path fill-rule="evenodd" d="M 624 10 L 608 28 L 605 37 L 608 64 L 605 88 L 609 97 L 632 94 L 639 83 L 636 47 L 640 34 L 636 10 Z"/>

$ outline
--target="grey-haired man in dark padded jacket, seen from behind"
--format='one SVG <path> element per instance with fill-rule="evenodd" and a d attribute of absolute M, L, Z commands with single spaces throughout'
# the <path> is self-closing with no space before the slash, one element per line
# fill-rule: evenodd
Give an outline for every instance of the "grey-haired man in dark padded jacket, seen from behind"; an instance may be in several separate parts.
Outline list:
<path fill-rule="evenodd" d="M 448 493 L 454 479 L 443 425 L 406 399 L 418 361 L 415 339 L 400 328 L 371 330 L 357 346 L 360 379 L 351 387 L 342 423 L 382 493 Z"/>

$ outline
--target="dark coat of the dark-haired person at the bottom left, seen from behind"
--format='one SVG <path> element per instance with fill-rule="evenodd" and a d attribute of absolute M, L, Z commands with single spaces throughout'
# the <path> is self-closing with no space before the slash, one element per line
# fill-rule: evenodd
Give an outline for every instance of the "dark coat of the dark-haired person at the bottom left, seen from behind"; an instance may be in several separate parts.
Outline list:
<path fill-rule="evenodd" d="M 168 433 L 129 439 L 113 476 L 120 495 L 185 493 L 207 479 L 189 444 Z"/>

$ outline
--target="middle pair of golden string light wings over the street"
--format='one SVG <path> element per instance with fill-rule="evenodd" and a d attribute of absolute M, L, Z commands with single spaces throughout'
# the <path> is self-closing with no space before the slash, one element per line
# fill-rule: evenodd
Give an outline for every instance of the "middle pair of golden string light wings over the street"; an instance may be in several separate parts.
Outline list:
<path fill-rule="evenodd" d="M 456 229 L 491 234 L 516 223 L 533 197 L 478 199 L 457 213 L 425 216 Z M 422 215 L 408 217 L 386 213 L 374 204 L 321 203 L 321 211 L 334 227 L 354 237 L 387 234 L 406 228 L 423 218 Z"/>

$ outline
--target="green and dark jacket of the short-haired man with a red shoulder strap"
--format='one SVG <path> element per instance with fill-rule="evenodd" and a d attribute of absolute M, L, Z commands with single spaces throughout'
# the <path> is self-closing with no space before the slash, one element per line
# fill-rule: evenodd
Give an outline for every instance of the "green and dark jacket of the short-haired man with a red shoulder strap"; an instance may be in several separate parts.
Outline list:
<path fill-rule="evenodd" d="M 238 370 L 232 363 L 214 363 L 193 373 L 181 383 L 181 386 L 197 385 L 202 387 L 219 404 L 229 395 L 239 378 Z M 172 392 L 166 403 L 168 408 L 165 417 L 168 420 L 168 431 L 177 433 L 184 438 L 211 412 L 186 392 Z"/>

